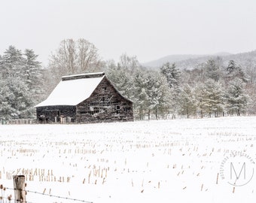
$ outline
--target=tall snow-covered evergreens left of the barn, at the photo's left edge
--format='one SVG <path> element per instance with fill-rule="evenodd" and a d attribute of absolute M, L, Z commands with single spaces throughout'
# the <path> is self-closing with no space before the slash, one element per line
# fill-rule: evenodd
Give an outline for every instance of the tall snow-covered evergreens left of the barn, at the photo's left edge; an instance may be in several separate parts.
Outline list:
<path fill-rule="evenodd" d="M 34 117 L 33 106 L 41 97 L 37 92 L 40 63 L 33 50 L 24 53 L 10 46 L 0 60 L 0 114 L 2 120 Z"/>

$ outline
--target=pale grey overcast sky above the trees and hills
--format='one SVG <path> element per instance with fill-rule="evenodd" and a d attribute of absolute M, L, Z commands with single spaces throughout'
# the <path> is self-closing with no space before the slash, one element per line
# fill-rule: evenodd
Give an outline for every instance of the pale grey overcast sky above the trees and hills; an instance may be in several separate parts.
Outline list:
<path fill-rule="evenodd" d="M 85 38 L 102 59 L 148 62 L 170 54 L 256 48 L 256 0 L 0 0 L 0 54 L 35 50 L 47 65 L 65 38 Z"/>

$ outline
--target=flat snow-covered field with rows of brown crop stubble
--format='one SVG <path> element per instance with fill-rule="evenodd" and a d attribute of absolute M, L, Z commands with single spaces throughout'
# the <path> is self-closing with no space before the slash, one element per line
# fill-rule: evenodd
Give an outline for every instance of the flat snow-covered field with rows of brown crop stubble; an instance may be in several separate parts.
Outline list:
<path fill-rule="evenodd" d="M 25 174 L 28 202 L 256 201 L 256 174 L 235 188 L 220 175 L 232 152 L 256 159 L 256 117 L 0 126 L 0 143 L 4 197 Z"/>

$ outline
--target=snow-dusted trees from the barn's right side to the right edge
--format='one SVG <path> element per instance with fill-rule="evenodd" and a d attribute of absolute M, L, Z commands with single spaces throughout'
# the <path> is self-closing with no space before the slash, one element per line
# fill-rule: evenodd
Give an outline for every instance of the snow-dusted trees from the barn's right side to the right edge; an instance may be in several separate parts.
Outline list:
<path fill-rule="evenodd" d="M 183 71 L 175 63 L 152 71 L 134 61 L 121 56 L 107 73 L 133 100 L 137 119 L 255 114 L 255 81 L 233 60 L 225 66 L 221 58 L 209 59 L 200 68 Z"/>

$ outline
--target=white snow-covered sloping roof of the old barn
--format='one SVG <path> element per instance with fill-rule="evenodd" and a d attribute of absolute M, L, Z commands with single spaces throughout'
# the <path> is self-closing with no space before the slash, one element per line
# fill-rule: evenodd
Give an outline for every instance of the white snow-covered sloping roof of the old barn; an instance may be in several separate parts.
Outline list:
<path fill-rule="evenodd" d="M 78 105 L 90 97 L 104 77 L 102 72 L 64 76 L 48 98 L 35 107 Z"/>

